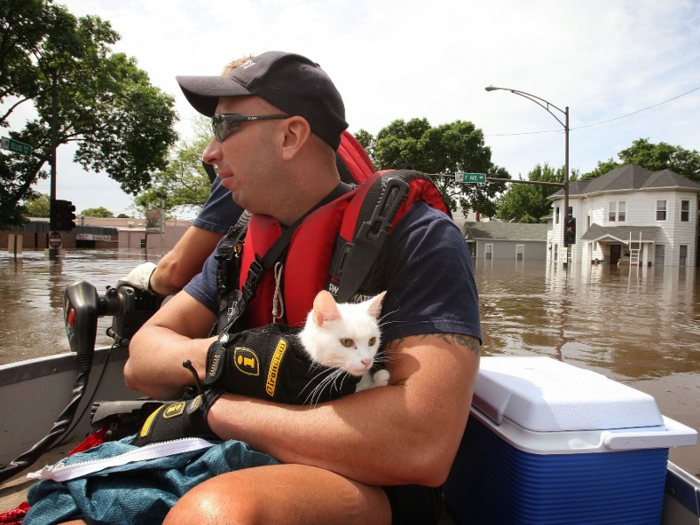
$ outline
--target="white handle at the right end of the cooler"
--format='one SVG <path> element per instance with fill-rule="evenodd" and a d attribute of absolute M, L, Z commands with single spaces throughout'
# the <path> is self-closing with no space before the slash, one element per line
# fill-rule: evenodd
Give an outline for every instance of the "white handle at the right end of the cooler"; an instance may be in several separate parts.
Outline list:
<path fill-rule="evenodd" d="M 663 417 L 662 430 L 610 432 L 602 434 L 603 445 L 609 450 L 639 450 L 644 448 L 688 447 L 696 445 L 698 433 L 678 421 Z"/>

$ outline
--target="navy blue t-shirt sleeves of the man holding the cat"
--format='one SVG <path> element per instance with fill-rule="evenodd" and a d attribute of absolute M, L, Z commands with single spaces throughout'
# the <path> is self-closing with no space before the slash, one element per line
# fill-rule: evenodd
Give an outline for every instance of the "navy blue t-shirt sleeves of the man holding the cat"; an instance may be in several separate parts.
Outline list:
<path fill-rule="evenodd" d="M 185 291 L 218 315 L 217 250 Z M 429 333 L 480 341 L 479 298 L 469 249 L 457 225 L 424 202 L 413 205 L 389 237 L 382 339 Z"/>

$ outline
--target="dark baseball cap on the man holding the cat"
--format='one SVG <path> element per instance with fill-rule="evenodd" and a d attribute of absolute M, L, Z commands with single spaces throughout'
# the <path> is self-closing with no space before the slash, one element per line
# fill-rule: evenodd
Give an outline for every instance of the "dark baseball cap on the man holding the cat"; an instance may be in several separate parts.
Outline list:
<path fill-rule="evenodd" d="M 220 97 L 256 95 L 288 115 L 304 117 L 334 150 L 348 127 L 343 99 L 330 77 L 301 55 L 270 51 L 224 76 L 176 79 L 192 107 L 207 117 L 214 116 Z"/>

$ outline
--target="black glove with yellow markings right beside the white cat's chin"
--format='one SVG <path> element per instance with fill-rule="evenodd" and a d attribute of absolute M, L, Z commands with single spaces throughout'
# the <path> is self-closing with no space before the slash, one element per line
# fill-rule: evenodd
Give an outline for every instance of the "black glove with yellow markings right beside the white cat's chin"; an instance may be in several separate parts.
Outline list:
<path fill-rule="evenodd" d="M 321 366 L 304 350 L 301 328 L 272 324 L 235 334 L 221 334 L 207 351 L 205 386 L 278 403 L 304 405 L 355 392 L 360 380 Z"/>

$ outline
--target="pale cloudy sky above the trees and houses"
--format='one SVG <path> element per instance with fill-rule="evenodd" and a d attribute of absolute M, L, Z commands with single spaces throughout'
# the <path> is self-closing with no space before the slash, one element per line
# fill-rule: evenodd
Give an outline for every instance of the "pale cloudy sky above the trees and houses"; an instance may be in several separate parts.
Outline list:
<path fill-rule="evenodd" d="M 538 163 L 564 165 L 564 127 L 529 100 L 486 92 L 489 85 L 568 107 L 570 166 L 581 173 L 617 160 L 639 138 L 700 149 L 698 0 L 56 3 L 111 22 L 121 35 L 113 50 L 135 57 L 175 96 L 182 138 L 192 136 L 196 112 L 176 75 L 218 75 L 233 59 L 280 50 L 330 75 L 351 132 L 376 135 L 395 119 L 471 121 L 493 162 L 514 178 L 527 179 Z M 11 123 L 21 127 L 30 115 L 31 108 L 18 111 Z M 58 150 L 58 198 L 78 211 L 127 211 L 132 197 L 106 174 L 83 171 L 73 154 L 70 146 Z M 36 188 L 48 193 L 48 181 Z"/>

